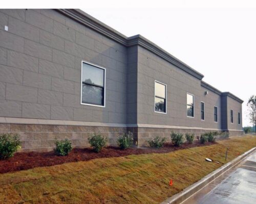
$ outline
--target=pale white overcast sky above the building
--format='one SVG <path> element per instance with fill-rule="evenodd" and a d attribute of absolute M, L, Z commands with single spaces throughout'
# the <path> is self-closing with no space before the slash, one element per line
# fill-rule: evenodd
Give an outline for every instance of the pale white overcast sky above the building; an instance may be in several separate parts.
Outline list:
<path fill-rule="evenodd" d="M 10 4 L 10 5 L 8 5 Z M 256 94 L 256 1 L 108 0 L 16 1 L 5 8 L 79 8 L 126 36 L 141 34 L 240 97 Z"/>

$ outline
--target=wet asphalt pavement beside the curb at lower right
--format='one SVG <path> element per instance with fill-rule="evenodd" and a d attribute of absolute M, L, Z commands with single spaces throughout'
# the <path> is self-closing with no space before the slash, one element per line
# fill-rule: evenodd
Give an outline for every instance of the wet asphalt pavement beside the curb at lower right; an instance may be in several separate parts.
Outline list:
<path fill-rule="evenodd" d="M 256 152 L 182 204 L 256 204 Z"/>

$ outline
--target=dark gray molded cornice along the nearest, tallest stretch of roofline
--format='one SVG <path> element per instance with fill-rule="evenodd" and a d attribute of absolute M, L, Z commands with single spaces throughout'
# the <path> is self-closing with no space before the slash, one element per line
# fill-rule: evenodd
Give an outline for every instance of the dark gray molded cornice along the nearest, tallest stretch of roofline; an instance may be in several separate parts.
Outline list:
<path fill-rule="evenodd" d="M 108 25 L 100 22 L 96 18 L 90 16 L 89 14 L 79 10 L 79 9 L 56 9 L 61 14 L 72 18 L 73 20 L 85 25 L 86 27 L 100 33 L 126 47 L 130 46 L 141 46 L 150 52 L 154 53 L 155 55 L 161 57 L 162 59 L 172 63 L 173 65 L 179 67 L 183 71 L 193 75 L 193 77 L 202 80 L 204 75 L 200 72 L 196 71 L 195 69 L 189 67 L 182 61 L 178 60 L 174 56 L 170 55 L 161 47 L 157 46 L 150 40 L 147 40 L 141 35 L 136 35 L 132 37 L 126 37 L 121 33 L 117 32 L 116 30 L 112 29 Z"/>

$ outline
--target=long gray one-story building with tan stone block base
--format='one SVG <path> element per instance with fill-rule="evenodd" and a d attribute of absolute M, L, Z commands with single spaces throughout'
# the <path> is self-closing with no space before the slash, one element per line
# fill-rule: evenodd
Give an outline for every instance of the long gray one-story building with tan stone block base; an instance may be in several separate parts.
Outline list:
<path fill-rule="evenodd" d="M 23 150 L 76 147 L 101 132 L 137 145 L 171 131 L 242 131 L 243 101 L 140 35 L 74 9 L 0 10 L 0 132 Z"/>

